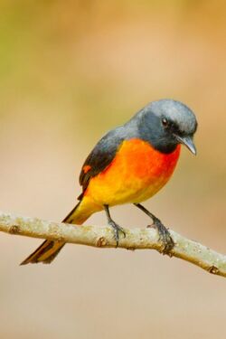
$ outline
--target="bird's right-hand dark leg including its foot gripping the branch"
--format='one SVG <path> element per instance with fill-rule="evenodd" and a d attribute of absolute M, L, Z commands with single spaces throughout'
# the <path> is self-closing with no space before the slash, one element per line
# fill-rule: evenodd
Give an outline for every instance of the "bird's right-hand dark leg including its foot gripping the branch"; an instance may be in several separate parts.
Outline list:
<path fill-rule="evenodd" d="M 164 244 L 163 253 L 167 254 L 170 250 L 174 248 L 174 240 L 171 238 L 170 232 L 166 229 L 164 224 L 158 218 L 156 218 L 154 214 L 147 211 L 144 206 L 142 206 L 140 203 L 134 203 L 134 204 L 152 219 L 153 224 L 147 227 L 155 227 L 155 229 L 158 231 L 159 240 L 161 240 Z"/>

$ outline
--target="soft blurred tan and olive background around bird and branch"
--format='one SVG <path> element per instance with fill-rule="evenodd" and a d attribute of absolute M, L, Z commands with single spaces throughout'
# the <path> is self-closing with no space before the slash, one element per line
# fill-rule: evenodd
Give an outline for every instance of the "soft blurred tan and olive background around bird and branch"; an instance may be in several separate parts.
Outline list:
<path fill-rule="evenodd" d="M 1 0 L 1 210 L 61 221 L 99 137 L 174 98 L 196 112 L 198 155 L 184 148 L 146 207 L 226 252 L 225 14 L 221 0 Z M 132 206 L 112 215 L 149 222 Z M 155 251 L 76 245 L 51 266 L 19 267 L 40 243 L 1 233 L 1 338 L 225 338 L 224 278 Z"/>

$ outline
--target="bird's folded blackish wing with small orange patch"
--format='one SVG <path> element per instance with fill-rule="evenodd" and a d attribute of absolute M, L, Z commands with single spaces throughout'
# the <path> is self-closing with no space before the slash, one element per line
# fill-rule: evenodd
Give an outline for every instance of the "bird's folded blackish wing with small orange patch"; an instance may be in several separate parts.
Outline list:
<path fill-rule="evenodd" d="M 82 186 L 82 193 L 87 189 L 90 178 L 101 173 L 114 159 L 118 147 L 121 145 L 124 138 L 122 137 L 122 127 L 118 127 L 108 132 L 102 137 L 98 144 L 93 148 L 88 155 L 80 172 L 80 185 Z"/>

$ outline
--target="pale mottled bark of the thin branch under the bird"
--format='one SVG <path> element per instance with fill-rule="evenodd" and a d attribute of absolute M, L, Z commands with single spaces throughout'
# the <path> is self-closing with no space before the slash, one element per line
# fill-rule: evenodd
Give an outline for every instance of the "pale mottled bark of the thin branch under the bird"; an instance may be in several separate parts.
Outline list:
<path fill-rule="evenodd" d="M 154 228 L 124 229 L 126 238 L 121 237 L 118 248 L 127 250 L 163 251 L 163 244 Z M 16 216 L 0 212 L 0 231 L 32 238 L 65 241 L 98 248 L 115 248 L 116 242 L 109 227 L 76 226 L 38 218 Z M 174 240 L 174 249 L 170 257 L 184 259 L 206 271 L 226 277 L 226 256 L 209 249 L 202 244 L 188 240 L 180 234 L 170 231 Z"/>

